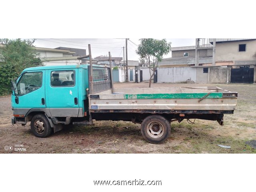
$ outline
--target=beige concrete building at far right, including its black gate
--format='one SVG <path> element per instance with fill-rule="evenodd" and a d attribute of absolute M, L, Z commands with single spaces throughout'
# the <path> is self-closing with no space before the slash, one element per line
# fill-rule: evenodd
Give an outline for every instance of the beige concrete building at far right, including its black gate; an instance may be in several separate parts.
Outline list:
<path fill-rule="evenodd" d="M 215 60 L 228 66 L 228 82 L 256 83 L 256 39 L 216 39 Z"/>

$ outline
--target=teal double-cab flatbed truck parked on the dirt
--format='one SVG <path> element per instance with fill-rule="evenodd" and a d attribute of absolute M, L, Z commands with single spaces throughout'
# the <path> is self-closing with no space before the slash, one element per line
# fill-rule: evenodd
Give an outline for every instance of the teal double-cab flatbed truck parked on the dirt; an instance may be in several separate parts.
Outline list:
<path fill-rule="evenodd" d="M 86 64 L 27 68 L 12 81 L 12 124 L 30 122 L 33 134 L 45 138 L 62 125 L 124 120 L 141 124 L 142 136 L 159 144 L 172 121 L 223 125 L 224 114 L 236 109 L 238 94 L 218 87 L 114 88 L 110 76 L 110 68 Z"/>

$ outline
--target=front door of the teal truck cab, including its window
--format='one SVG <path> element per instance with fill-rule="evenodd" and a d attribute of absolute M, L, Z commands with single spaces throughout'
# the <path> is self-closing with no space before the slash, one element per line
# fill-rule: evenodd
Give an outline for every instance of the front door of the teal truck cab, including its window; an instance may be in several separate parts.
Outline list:
<path fill-rule="evenodd" d="M 17 80 L 16 96 L 12 95 L 14 115 L 26 115 L 32 108 L 46 108 L 45 70 L 24 72 Z"/>

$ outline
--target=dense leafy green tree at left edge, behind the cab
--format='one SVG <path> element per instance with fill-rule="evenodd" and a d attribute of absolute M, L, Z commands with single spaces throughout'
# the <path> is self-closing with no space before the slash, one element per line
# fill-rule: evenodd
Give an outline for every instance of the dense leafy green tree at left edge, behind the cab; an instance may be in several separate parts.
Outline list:
<path fill-rule="evenodd" d="M 0 95 L 11 92 L 11 80 L 28 67 L 38 66 L 40 59 L 33 40 L 0 39 Z"/>

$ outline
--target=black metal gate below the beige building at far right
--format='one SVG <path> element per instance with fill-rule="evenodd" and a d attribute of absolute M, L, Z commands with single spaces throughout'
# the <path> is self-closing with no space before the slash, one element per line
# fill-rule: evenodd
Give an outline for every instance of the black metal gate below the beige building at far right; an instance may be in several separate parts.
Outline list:
<path fill-rule="evenodd" d="M 253 83 L 254 68 L 231 69 L 231 83 Z"/>

